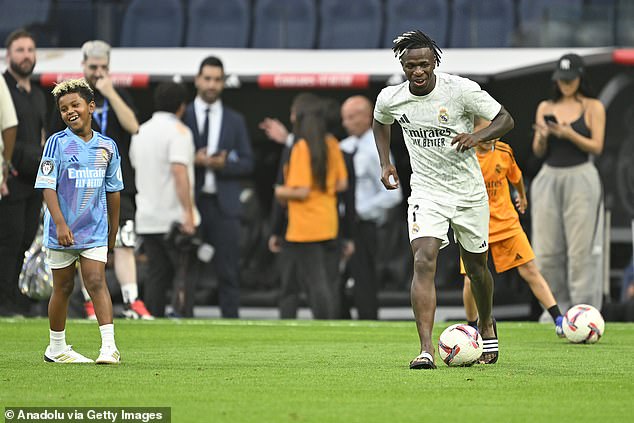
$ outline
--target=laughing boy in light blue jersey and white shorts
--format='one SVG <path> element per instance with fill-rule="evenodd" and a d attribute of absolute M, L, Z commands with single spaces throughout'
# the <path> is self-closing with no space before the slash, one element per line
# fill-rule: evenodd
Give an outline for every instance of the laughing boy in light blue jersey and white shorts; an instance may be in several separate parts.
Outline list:
<path fill-rule="evenodd" d="M 60 83 L 53 89 L 53 96 L 67 128 L 46 141 L 35 180 L 35 188 L 42 189 L 48 206 L 44 245 L 53 271 L 53 294 L 48 306 L 50 343 L 44 360 L 93 362 L 66 345 L 68 300 L 73 291 L 75 262 L 79 260 L 101 332 L 96 363 L 116 364 L 120 354 L 114 342 L 105 267 L 119 225 L 121 157 L 112 139 L 91 129 L 94 94 L 84 79 Z"/>

